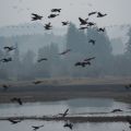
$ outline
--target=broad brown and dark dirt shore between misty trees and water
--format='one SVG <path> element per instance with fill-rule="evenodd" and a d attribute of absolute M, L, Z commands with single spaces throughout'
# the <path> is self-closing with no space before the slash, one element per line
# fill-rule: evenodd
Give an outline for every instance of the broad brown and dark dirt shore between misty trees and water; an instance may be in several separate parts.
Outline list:
<path fill-rule="evenodd" d="M 130 80 L 130 78 L 41 80 L 37 85 L 33 81 L 8 82 L 10 87 L 7 91 L 0 87 L 0 103 L 11 103 L 12 97 L 21 97 L 24 103 L 87 97 L 115 98 L 131 103 L 131 90 L 124 87 Z"/>

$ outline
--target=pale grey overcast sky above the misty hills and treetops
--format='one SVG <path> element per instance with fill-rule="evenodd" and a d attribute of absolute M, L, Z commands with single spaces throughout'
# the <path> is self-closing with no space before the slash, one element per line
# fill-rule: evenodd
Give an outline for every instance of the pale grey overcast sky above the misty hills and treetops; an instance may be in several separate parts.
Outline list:
<path fill-rule="evenodd" d="M 50 9 L 61 8 L 60 16 L 51 20 L 52 25 L 69 20 L 79 25 L 79 16 L 87 17 L 91 11 L 108 15 L 104 19 L 92 17 L 99 26 L 131 23 L 131 0 L 0 0 L 0 26 L 33 23 L 31 13 L 44 15 L 43 24 L 49 22 Z"/>

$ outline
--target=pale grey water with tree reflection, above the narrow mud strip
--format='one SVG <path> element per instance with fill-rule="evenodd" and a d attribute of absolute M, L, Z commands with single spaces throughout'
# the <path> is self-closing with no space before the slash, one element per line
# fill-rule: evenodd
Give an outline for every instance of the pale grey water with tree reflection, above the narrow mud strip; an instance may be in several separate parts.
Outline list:
<path fill-rule="evenodd" d="M 0 104 L 0 117 L 21 117 L 21 116 L 55 116 L 70 109 L 70 116 L 131 116 L 131 105 L 115 102 L 110 98 L 78 98 L 49 103 L 26 103 L 23 106 L 17 104 Z M 118 114 L 110 112 L 112 109 L 120 108 L 123 111 Z"/>

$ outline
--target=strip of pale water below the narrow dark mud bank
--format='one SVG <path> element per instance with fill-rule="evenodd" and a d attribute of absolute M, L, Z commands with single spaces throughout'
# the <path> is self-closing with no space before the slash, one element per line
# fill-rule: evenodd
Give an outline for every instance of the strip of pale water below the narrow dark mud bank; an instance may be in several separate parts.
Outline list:
<path fill-rule="evenodd" d="M 0 121 L 0 131 L 33 131 L 32 126 L 44 127 L 38 131 L 71 131 L 68 128 L 63 128 L 64 122 L 52 121 L 36 121 L 24 120 L 17 124 L 11 124 L 9 121 Z M 130 131 L 129 124 L 126 122 L 85 122 L 73 123 L 73 131 Z"/>

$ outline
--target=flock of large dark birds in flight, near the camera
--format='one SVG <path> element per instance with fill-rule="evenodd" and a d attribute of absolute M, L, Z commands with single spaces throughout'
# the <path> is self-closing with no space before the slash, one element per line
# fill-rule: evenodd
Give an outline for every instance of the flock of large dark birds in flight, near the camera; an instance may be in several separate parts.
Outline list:
<path fill-rule="evenodd" d="M 60 12 L 61 12 L 61 9 L 51 9 L 51 13 L 48 15 L 48 19 L 50 20 L 50 19 L 57 17 L 58 15 L 60 15 Z M 103 14 L 103 13 L 100 13 L 100 12 L 96 12 L 96 11 L 95 11 L 95 12 L 88 13 L 88 17 L 87 17 L 87 19 L 79 17 L 79 21 L 80 21 L 80 28 L 79 28 L 79 29 L 87 29 L 87 28 L 90 28 L 90 27 L 96 26 L 96 23 L 88 21 L 90 17 L 91 17 L 92 15 L 95 15 L 95 14 L 96 14 L 96 17 L 104 17 L 104 16 L 107 15 L 106 13 Z M 41 16 L 41 15 L 39 15 L 39 14 L 32 13 L 32 21 L 40 21 L 40 20 L 43 20 L 43 17 L 44 17 L 44 16 Z M 70 25 L 70 22 L 69 22 L 69 21 L 62 21 L 61 24 L 62 24 L 62 26 L 67 26 L 67 25 Z M 44 25 L 44 28 L 47 29 L 47 31 L 48 31 L 48 29 L 52 29 L 51 23 L 49 22 L 49 23 L 45 24 L 45 25 Z M 105 27 L 99 27 L 99 28 L 97 28 L 97 32 L 105 32 Z M 92 45 L 95 45 L 96 40 L 95 40 L 95 39 L 90 39 L 88 43 L 91 43 Z M 4 49 L 7 52 L 10 52 L 10 51 L 12 51 L 12 50 L 14 50 L 14 49 L 16 49 L 16 48 L 15 48 L 14 46 L 5 46 L 5 47 L 3 47 L 3 49 Z M 72 50 L 72 49 L 67 49 L 67 50 L 60 52 L 59 55 L 60 55 L 60 56 L 67 55 L 67 53 L 70 52 L 71 50 Z M 79 61 L 79 62 L 74 63 L 74 66 L 75 66 L 75 67 L 83 67 L 83 68 L 84 68 L 85 66 L 91 66 L 91 61 L 94 60 L 95 58 L 96 58 L 96 57 L 86 58 L 86 59 L 84 59 L 84 60 L 82 60 L 82 61 Z M 37 60 L 37 62 L 47 61 L 47 60 L 48 60 L 48 58 L 40 58 L 40 59 Z M 12 58 L 11 58 L 11 57 L 0 59 L 0 62 L 10 62 L 10 61 L 12 61 Z M 34 83 L 34 84 L 40 84 L 41 81 L 35 81 L 35 82 L 33 82 L 33 83 Z M 7 90 L 10 87 L 10 85 L 3 84 L 2 87 L 7 91 Z M 131 87 L 131 84 L 126 85 L 126 88 L 130 88 L 130 87 Z M 12 102 L 12 103 L 17 103 L 19 105 L 23 105 L 22 99 L 19 98 L 19 97 L 13 97 L 13 98 L 11 98 L 11 102 Z M 119 110 L 119 109 L 112 110 L 112 112 L 116 112 L 116 111 L 121 111 L 121 110 Z M 60 115 L 62 118 L 64 118 L 64 117 L 67 117 L 68 112 L 69 112 L 69 109 L 67 109 L 63 114 L 59 114 L 59 115 Z M 13 124 L 21 122 L 21 120 L 15 120 L 15 119 L 11 119 L 11 118 L 8 119 L 8 120 L 9 120 L 11 123 L 13 123 Z M 131 128 L 131 119 L 128 118 L 127 121 L 130 123 L 130 128 Z M 44 127 L 44 124 L 43 124 L 43 126 L 32 126 L 33 130 L 35 130 L 35 131 L 38 130 L 38 129 L 40 129 L 40 128 L 43 128 L 43 127 Z M 68 127 L 68 128 L 71 129 L 71 130 L 73 129 L 73 124 L 72 124 L 71 122 L 66 122 L 66 123 L 63 124 L 63 127 L 64 127 L 64 128 Z"/>

